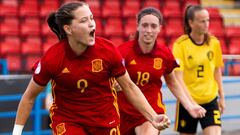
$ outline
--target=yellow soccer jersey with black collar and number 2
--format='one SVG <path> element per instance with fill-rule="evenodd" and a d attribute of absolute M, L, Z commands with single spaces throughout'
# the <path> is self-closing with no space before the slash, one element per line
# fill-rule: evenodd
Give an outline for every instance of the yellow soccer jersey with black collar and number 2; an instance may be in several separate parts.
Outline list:
<path fill-rule="evenodd" d="M 196 45 L 188 35 L 179 37 L 173 46 L 173 54 L 183 71 L 183 79 L 190 94 L 198 104 L 208 103 L 218 94 L 214 79 L 216 67 L 223 66 L 220 42 L 210 37 L 209 45 Z"/>

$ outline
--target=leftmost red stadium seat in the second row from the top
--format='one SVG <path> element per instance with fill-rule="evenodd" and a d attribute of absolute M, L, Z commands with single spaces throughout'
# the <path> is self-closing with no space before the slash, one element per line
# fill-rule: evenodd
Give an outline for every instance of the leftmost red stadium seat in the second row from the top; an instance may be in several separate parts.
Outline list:
<path fill-rule="evenodd" d="M 4 17 L 0 25 L 0 35 L 2 36 L 18 36 L 19 20 L 15 17 Z"/>

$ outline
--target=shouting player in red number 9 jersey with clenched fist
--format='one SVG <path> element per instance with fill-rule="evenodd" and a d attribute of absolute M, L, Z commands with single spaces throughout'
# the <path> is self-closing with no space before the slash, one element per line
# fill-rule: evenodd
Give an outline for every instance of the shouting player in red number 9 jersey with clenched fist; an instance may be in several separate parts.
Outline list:
<path fill-rule="evenodd" d="M 112 80 L 128 100 L 158 130 L 169 126 L 131 81 L 120 53 L 103 38 L 95 38 L 95 21 L 88 5 L 71 2 L 48 18 L 60 41 L 36 64 L 33 77 L 19 103 L 13 135 L 20 135 L 36 96 L 51 80 L 50 108 L 54 135 L 120 135 L 119 111 Z"/>

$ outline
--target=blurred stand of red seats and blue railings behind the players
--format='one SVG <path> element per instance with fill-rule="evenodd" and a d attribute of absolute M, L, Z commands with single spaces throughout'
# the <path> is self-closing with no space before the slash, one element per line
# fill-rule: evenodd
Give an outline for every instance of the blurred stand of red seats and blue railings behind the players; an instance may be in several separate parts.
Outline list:
<path fill-rule="evenodd" d="M 0 0 L 0 135 L 10 135 L 18 102 L 31 77 L 31 67 L 58 39 L 46 19 L 61 4 L 73 0 Z M 184 9 L 201 4 L 210 13 L 210 32 L 221 42 L 224 54 L 224 88 L 227 111 L 223 133 L 240 130 L 240 2 L 238 0 L 85 0 L 97 25 L 96 35 L 116 46 L 136 30 L 136 14 L 144 7 L 158 8 L 164 17 L 160 44 L 171 48 L 183 34 Z M 166 106 L 174 121 L 175 99 L 166 91 Z M 45 93 L 37 98 L 24 134 L 50 134 Z M 224 124 L 227 123 L 227 124 Z M 230 124 L 235 125 L 229 126 Z M 173 125 L 173 124 L 172 124 Z M 237 126 L 238 125 L 238 126 Z M 226 131 L 226 132 L 225 132 Z M 162 134 L 176 134 L 172 128 Z M 238 135 L 240 133 L 237 133 Z"/>

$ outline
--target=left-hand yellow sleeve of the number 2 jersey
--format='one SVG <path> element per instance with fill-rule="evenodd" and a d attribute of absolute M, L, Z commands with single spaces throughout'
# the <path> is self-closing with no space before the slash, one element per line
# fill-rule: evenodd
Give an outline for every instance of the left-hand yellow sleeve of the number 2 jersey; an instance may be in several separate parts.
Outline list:
<path fill-rule="evenodd" d="M 173 55 L 177 61 L 177 64 L 179 67 L 175 68 L 175 70 L 183 71 L 184 69 L 184 62 L 183 62 L 183 54 L 181 51 L 181 45 L 177 42 L 174 42 L 173 44 Z"/>

